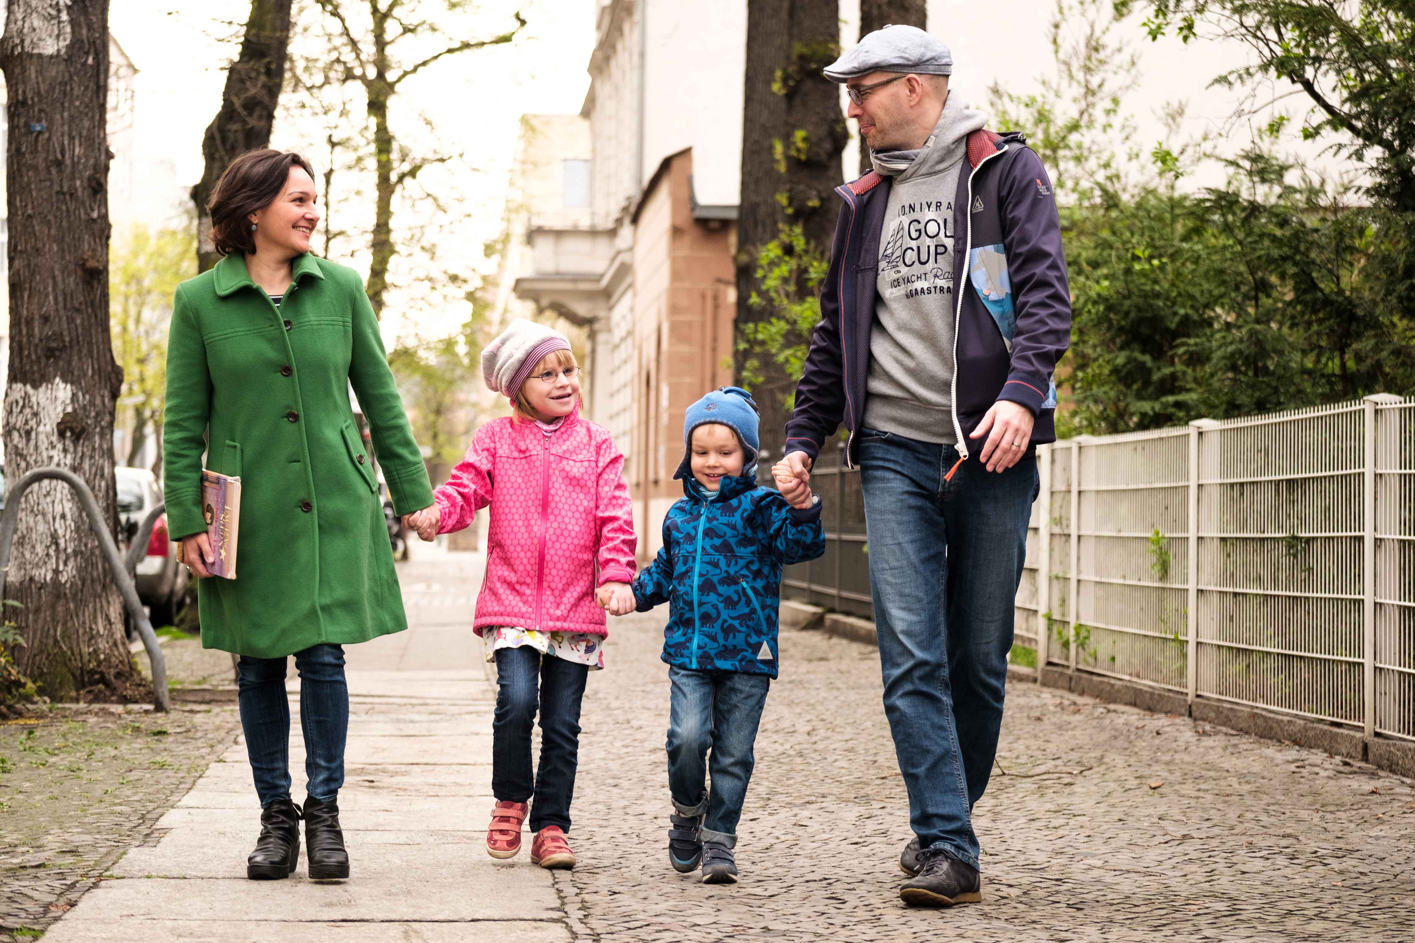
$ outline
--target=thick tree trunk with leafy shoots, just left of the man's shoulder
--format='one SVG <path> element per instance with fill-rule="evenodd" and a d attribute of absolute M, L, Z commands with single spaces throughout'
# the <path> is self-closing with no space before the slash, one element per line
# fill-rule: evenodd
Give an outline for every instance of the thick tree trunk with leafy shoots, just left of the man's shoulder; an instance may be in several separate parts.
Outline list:
<path fill-rule="evenodd" d="M 768 351 L 754 349 L 743 328 L 782 312 L 760 294 L 758 256 L 798 225 L 808 252 L 828 254 L 839 212 L 841 151 L 849 131 L 839 88 L 821 69 L 841 49 L 838 0 L 749 0 L 743 100 L 741 199 L 737 212 L 737 322 L 734 366 L 740 377 L 757 362 L 756 400 L 761 447 L 774 461 L 785 443 L 785 402 L 795 389 Z M 814 288 L 801 284 L 799 297 Z"/>

